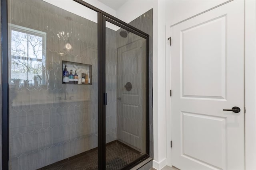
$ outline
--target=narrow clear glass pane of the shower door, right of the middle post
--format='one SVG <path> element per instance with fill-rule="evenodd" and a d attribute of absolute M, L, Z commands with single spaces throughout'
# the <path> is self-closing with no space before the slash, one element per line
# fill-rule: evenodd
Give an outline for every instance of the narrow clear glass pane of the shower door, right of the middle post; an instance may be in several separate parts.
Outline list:
<path fill-rule="evenodd" d="M 146 39 L 106 21 L 106 169 L 146 154 Z"/>

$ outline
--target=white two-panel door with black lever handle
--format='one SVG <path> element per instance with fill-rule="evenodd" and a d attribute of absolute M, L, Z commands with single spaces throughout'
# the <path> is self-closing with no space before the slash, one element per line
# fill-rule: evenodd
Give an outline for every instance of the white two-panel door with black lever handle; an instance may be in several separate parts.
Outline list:
<path fill-rule="evenodd" d="M 171 37 L 173 166 L 244 170 L 244 1 L 178 23 Z"/>

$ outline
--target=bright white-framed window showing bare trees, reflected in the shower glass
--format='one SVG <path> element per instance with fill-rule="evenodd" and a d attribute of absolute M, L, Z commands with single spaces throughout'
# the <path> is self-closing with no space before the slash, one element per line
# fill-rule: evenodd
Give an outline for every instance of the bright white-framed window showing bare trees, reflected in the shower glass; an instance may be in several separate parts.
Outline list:
<path fill-rule="evenodd" d="M 46 33 L 10 24 L 11 80 L 21 84 L 45 84 Z"/>

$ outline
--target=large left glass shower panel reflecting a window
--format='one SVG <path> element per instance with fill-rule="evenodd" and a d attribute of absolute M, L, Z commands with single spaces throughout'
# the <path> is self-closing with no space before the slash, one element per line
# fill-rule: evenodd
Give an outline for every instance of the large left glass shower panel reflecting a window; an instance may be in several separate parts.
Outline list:
<path fill-rule="evenodd" d="M 8 0 L 9 168 L 96 169 L 97 12 L 48 2 Z"/>

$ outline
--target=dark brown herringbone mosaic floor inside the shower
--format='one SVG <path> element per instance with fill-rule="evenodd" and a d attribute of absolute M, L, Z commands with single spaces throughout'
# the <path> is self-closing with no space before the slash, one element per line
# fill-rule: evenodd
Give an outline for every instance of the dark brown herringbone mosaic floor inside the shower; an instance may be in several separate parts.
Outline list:
<path fill-rule="evenodd" d="M 116 141 L 106 145 L 106 169 L 120 170 L 137 158 L 140 152 Z M 81 156 L 66 162 L 56 162 L 41 170 L 94 170 L 98 169 L 98 149 L 85 152 Z"/>

